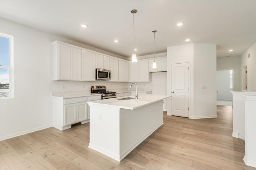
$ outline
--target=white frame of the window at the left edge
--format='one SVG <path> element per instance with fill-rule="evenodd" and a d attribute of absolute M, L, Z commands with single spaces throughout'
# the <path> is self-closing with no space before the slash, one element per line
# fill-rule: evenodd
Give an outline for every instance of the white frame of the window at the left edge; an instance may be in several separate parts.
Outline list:
<path fill-rule="evenodd" d="M 9 69 L 9 96 L 8 97 L 0 97 L 0 99 L 11 99 L 14 98 L 14 74 L 13 74 L 13 36 L 7 35 L 4 33 L 0 33 L 0 37 L 9 39 L 9 66 L 1 66 L 0 68 Z"/>

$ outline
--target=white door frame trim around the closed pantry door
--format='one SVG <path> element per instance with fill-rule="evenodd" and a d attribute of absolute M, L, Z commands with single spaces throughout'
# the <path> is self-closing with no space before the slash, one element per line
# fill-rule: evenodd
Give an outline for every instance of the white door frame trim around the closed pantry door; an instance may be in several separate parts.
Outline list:
<path fill-rule="evenodd" d="M 171 62 L 170 63 L 170 80 L 172 81 L 172 64 L 182 64 L 182 63 L 188 63 L 188 66 L 189 66 L 189 70 L 188 70 L 188 118 L 191 118 L 193 117 L 194 115 L 194 107 L 192 105 L 192 101 L 191 101 L 191 96 L 192 96 L 192 92 L 193 92 L 193 89 L 191 88 L 191 70 L 193 68 L 191 68 L 191 61 L 180 61 L 180 62 Z M 170 83 L 170 92 L 172 92 L 172 82 Z M 171 104 L 171 108 L 170 108 L 170 114 L 168 115 L 172 115 L 172 102 L 170 103 Z"/>

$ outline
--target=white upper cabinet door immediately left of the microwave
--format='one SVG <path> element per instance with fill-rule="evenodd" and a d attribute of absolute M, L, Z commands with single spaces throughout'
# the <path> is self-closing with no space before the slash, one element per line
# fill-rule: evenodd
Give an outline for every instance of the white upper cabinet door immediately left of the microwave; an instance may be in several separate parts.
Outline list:
<path fill-rule="evenodd" d="M 96 54 L 82 51 L 82 80 L 95 81 Z"/>

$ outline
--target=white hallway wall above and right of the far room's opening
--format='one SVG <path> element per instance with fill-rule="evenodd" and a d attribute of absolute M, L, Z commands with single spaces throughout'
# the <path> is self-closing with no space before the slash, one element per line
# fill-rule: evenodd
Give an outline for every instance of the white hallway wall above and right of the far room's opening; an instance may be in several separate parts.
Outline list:
<path fill-rule="evenodd" d="M 240 91 L 240 57 L 217 58 L 217 70 L 233 70 L 234 91 Z"/>

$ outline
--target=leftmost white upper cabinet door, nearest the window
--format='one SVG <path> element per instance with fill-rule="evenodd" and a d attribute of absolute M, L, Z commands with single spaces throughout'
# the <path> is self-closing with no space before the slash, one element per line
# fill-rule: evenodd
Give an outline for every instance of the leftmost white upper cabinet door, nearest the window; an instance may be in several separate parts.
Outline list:
<path fill-rule="evenodd" d="M 59 44 L 58 79 L 70 80 L 70 47 Z"/>

